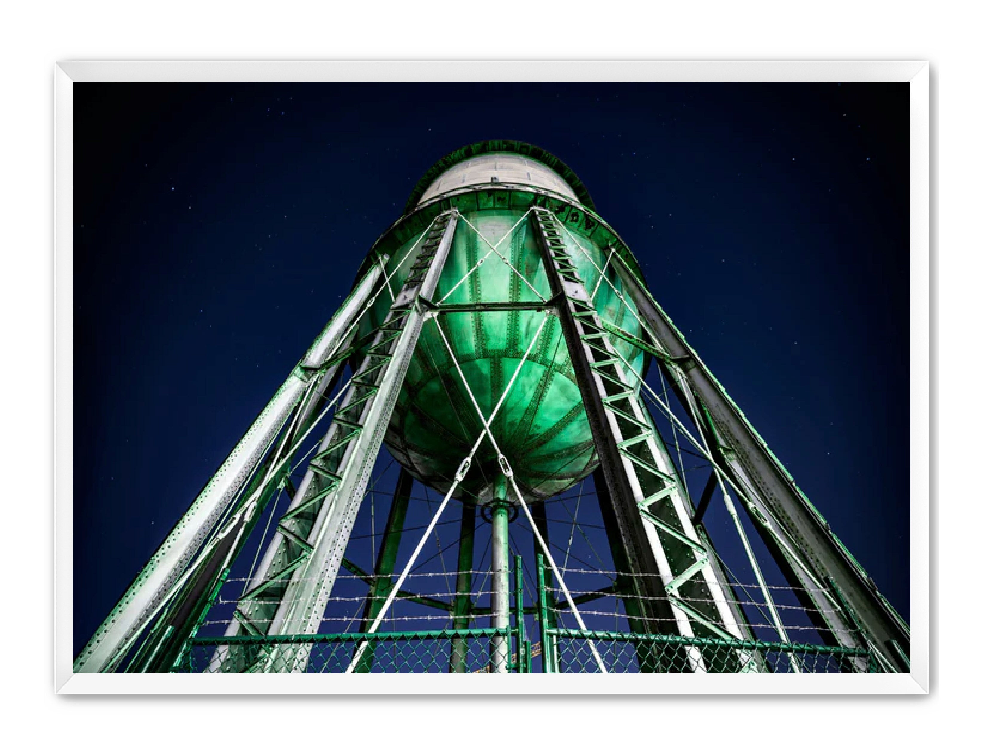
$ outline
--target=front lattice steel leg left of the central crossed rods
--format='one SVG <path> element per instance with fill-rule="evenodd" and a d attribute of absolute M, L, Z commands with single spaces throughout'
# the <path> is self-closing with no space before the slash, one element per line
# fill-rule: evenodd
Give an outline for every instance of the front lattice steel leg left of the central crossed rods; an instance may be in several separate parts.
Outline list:
<path fill-rule="evenodd" d="M 430 298 L 450 249 L 457 212 L 438 215 L 366 359 L 350 383 L 318 453 L 310 481 L 277 526 L 259 584 L 240 602 L 236 619 L 256 634 L 314 634 L 337 576 L 348 537 L 369 485 L 392 408 L 424 323 L 419 300 Z M 231 651 L 231 648 L 230 648 Z M 270 653 L 269 670 L 302 671 L 307 655 Z M 241 670 L 235 661 L 228 670 Z"/>

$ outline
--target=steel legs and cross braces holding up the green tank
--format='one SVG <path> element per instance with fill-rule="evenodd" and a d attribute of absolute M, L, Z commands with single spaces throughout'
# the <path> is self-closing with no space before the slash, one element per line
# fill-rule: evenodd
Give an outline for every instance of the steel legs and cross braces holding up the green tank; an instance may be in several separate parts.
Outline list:
<path fill-rule="evenodd" d="M 436 285 L 459 221 L 467 224 L 490 251 L 443 299 L 434 302 Z M 497 247 L 523 221 L 530 224 L 539 243 L 549 279 L 549 298 L 498 252 Z M 522 578 L 521 571 L 517 571 L 515 615 L 523 638 L 524 612 L 538 616 L 541 644 L 537 654 L 543 654 L 544 670 L 561 670 L 559 642 L 576 639 L 586 643 L 594 667 L 607 672 L 606 660 L 595 641 L 611 642 L 615 635 L 589 630 L 577 608 L 606 596 L 623 602 L 631 632 L 615 639 L 635 643 L 638 658 L 649 659 L 644 663 L 639 661 L 641 670 L 769 670 L 761 651 L 764 646 L 756 641 L 751 625 L 744 618 L 740 602 L 728 585 L 723 563 L 701 524 L 716 490 L 723 496 L 754 570 L 764 605 L 779 633 L 781 643 L 769 647 L 773 653 L 786 653 L 786 668 L 798 671 L 800 658 L 787 650 L 791 647 L 788 636 L 730 492 L 750 515 L 788 583 L 804 591 L 801 594 L 805 596 L 807 613 L 819 628 L 823 641 L 850 649 L 843 658 L 860 670 L 866 668 L 867 659 L 875 659 L 877 668 L 903 668 L 908 652 L 907 627 L 883 601 L 825 520 L 798 491 L 764 441 L 723 392 L 723 387 L 612 247 L 607 249 L 604 267 L 600 267 L 553 211 L 535 203 L 494 245 L 450 206 L 436 214 L 403 261 L 418 246 L 417 258 L 398 292 L 393 291 L 390 276 L 385 272 L 387 258 L 377 258 L 376 265 L 363 276 L 315 345 L 100 626 L 80 654 L 77 671 L 114 670 L 124 659 L 129 660 L 128 670 L 171 670 L 178 668 L 183 659 L 187 660 L 186 653 L 196 642 L 196 647 L 211 652 L 208 670 L 304 671 L 313 645 L 278 639 L 328 636 L 319 634 L 320 626 L 342 565 L 370 586 L 368 602 L 361 611 L 359 632 L 344 635 L 357 638 L 352 640 L 356 645 L 348 672 L 373 668 L 377 644 L 369 638 L 376 634 L 395 600 L 410 600 L 447 611 L 448 622 L 452 624 L 445 632 L 451 643 L 448 670 L 460 672 L 467 668 L 467 638 L 471 636 L 469 622 L 473 615 L 498 611 L 495 615 L 503 618 L 503 622 L 489 630 L 492 632 L 489 638 L 492 645 L 504 648 L 512 636 L 509 633 L 512 630 L 507 628 L 507 564 L 502 567 L 506 570 L 504 592 L 496 588 L 494 596 L 498 604 L 492 601 L 493 608 L 488 610 L 476 609 L 472 602 L 477 501 L 470 502 L 461 519 L 457 584 L 452 602 L 435 601 L 401 589 L 448 500 L 464 480 L 471 460 L 486 439 L 492 444 L 501 469 L 496 485 L 502 492 L 511 487 L 509 500 L 524 512 L 534 536 L 538 579 L 530 580 L 530 586 L 536 583 L 537 605 L 527 610 L 522 608 Z M 592 291 L 579 274 L 579 263 L 574 257 L 576 249 L 600 274 Z M 507 265 L 511 274 L 522 279 L 538 301 L 445 304 L 450 293 L 492 254 Z M 403 261 L 399 261 L 397 269 Z M 614 286 L 611 278 L 621 283 L 624 293 Z M 602 319 L 594 300 L 603 282 L 607 282 L 638 319 L 644 331 L 642 337 Z M 388 292 L 392 300 L 387 316 L 368 336 L 356 342 L 353 333 L 383 292 Z M 447 314 L 513 310 L 541 312 L 543 320 L 497 405 L 486 417 L 444 336 L 439 318 Z M 492 435 L 492 422 L 498 409 L 547 319 L 552 317 L 560 321 L 594 437 L 600 461 L 595 488 L 617 572 L 615 583 L 609 588 L 577 599 L 564 580 L 566 563 L 562 569 L 557 567 L 550 553 L 545 512 L 537 508 L 534 514 L 530 509 L 509 460 Z M 348 561 L 345 552 L 403 378 L 428 319 L 433 320 L 443 339 L 483 430 L 464 456 L 416 550 L 398 579 L 393 580 L 413 486 L 407 472 L 401 472 L 393 494 L 375 574 L 369 575 Z M 695 436 L 672 415 L 663 398 L 645 382 L 645 376 L 639 375 L 616 348 L 618 340 L 656 359 L 695 428 Z M 340 381 L 345 364 L 350 359 L 354 364 L 356 353 L 364 357 L 353 367 L 352 378 L 328 401 L 327 396 Z M 669 455 L 642 390 L 648 391 L 654 404 L 669 417 L 673 435 L 678 429 L 712 466 L 710 482 L 696 507 L 691 498 L 693 492 L 685 484 L 681 463 L 677 467 Z M 326 432 L 303 480 L 294 489 L 289 479 L 294 457 L 318 421 L 332 408 Z M 278 492 L 287 493 L 290 502 L 276 522 L 258 567 L 250 572 L 246 589 L 225 630 L 227 642 L 215 638 L 196 641 L 198 628 L 232 562 Z M 504 499 L 504 493 L 500 497 Z M 275 513 L 275 505 L 273 509 L 271 513 Z M 576 513 L 573 519 L 575 526 Z M 571 544 L 572 540 L 573 526 Z M 507 552 L 507 535 L 504 542 Z M 501 553 L 497 557 L 501 561 Z M 562 602 L 554 595 L 554 579 L 565 599 Z M 503 596 L 505 603 L 501 604 Z M 579 629 L 557 627 L 557 610 L 570 610 Z M 144 641 L 136 646 L 142 636 Z M 671 637 L 688 640 L 682 643 L 666 640 Z M 263 644 L 263 638 L 277 642 Z M 509 662 L 503 651 L 496 651 L 489 669 L 504 671 L 516 668 L 516 663 L 528 669 L 531 651 L 527 645 L 519 645 L 519 656 L 524 659 L 521 662 Z M 659 652 L 655 652 L 657 646 Z M 713 648 L 713 653 L 708 654 L 707 648 Z"/>

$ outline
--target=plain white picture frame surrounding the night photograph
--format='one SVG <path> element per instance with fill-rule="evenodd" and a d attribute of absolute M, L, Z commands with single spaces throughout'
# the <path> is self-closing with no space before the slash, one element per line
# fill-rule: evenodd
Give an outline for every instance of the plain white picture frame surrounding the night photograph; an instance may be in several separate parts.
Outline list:
<path fill-rule="evenodd" d="M 55 686 L 60 694 L 372 694 L 369 675 L 76 674 L 73 607 L 73 85 L 76 82 L 908 82 L 911 135 L 911 671 L 391 674 L 387 694 L 922 694 L 930 658 L 929 69 L 915 62 L 64 62 L 55 73 Z"/>

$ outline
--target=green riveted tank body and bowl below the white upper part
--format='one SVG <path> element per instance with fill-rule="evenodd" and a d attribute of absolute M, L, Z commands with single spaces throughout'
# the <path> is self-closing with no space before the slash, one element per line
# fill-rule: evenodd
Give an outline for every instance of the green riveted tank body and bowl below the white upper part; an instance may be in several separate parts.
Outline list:
<path fill-rule="evenodd" d="M 528 210 L 529 205 L 520 204 L 462 211 L 433 297 L 434 304 L 466 310 L 439 317 L 454 357 L 487 415 L 543 319 L 536 310 L 542 310 L 550 299 L 547 270 Z M 582 213 L 576 217 L 583 219 Z M 583 256 L 574 261 L 593 288 L 609 252 L 575 222 L 567 229 L 594 262 Z M 386 252 L 386 270 L 394 289 L 413 264 L 416 252 L 410 250 L 425 231 L 420 229 Z M 494 245 L 498 245 L 496 251 L 492 251 Z M 611 279 L 619 285 L 617 278 Z M 500 304 L 530 309 L 474 311 L 475 307 Z M 363 334 L 384 317 L 387 305 L 386 298 L 380 297 L 362 325 Z M 602 319 L 641 341 L 637 319 L 609 286 L 600 287 L 596 306 Z M 647 355 L 636 343 L 620 339 L 617 349 L 642 372 Z M 492 432 L 511 460 L 523 494 L 533 499 L 567 490 L 597 466 L 590 425 L 557 319 L 547 322 Z M 463 382 L 430 323 L 424 327 L 400 391 L 386 443 L 417 479 L 444 493 L 461 452 L 480 433 Z M 462 483 L 462 493 L 475 498 L 487 494 L 484 481 L 492 480 L 498 471 L 497 456 L 486 441 Z"/>

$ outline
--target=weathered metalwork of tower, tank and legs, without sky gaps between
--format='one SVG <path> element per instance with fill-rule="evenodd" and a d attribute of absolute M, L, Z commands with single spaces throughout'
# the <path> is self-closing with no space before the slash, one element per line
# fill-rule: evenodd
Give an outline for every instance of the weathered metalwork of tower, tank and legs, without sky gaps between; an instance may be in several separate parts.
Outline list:
<path fill-rule="evenodd" d="M 286 436 L 296 436 L 295 427 L 309 427 L 322 403 L 322 386 L 313 380 L 329 381 L 349 360 L 354 379 L 339 394 L 303 482 L 296 491 L 288 486 L 292 502 L 228 636 L 202 645 L 215 648 L 211 670 L 304 670 L 310 646 L 298 652 L 276 645 L 265 653 L 251 638 L 314 639 L 343 561 L 372 585 L 373 596 L 389 596 L 386 605 L 400 597 L 447 612 L 454 630 L 445 632 L 451 650 L 444 668 L 466 670 L 468 638 L 484 632 L 492 648 L 488 669 L 529 670 L 531 653 L 521 623 L 514 631 L 516 653 L 508 653 L 513 630 L 508 626 L 507 504 L 494 501 L 515 494 L 529 523 L 548 537 L 542 504 L 529 514 L 525 498 L 542 501 L 562 493 L 598 468 L 599 461 L 596 488 L 608 543 L 615 568 L 627 574 L 575 600 L 545 541 L 537 541 L 539 596 L 530 612 L 538 613 L 542 624 L 544 670 L 564 670 L 565 665 L 558 645 L 565 635 L 549 614 L 561 608 L 576 613 L 577 604 L 607 594 L 623 596 L 634 634 L 619 635 L 618 641 L 624 639 L 641 654 L 639 670 L 765 670 L 764 645 L 747 642 L 750 633 L 741 625 L 746 618 L 739 606 L 730 605 L 735 596 L 724 584 L 723 567 L 700 524 L 713 489 L 708 487 L 694 511 L 639 398 L 640 377 L 652 358 L 673 378 L 673 389 L 710 448 L 720 475 L 715 481 L 724 491 L 732 486 L 740 494 L 788 580 L 807 589 L 824 641 L 847 646 L 836 652 L 845 653 L 854 670 L 881 668 L 888 658 L 905 668 L 904 622 L 665 317 L 637 261 L 597 215 L 583 184 L 556 157 L 507 141 L 469 145 L 447 155 L 414 189 L 404 216 L 376 242 L 359 280 L 339 315 L 100 627 L 77 660 L 77 670 L 112 670 L 127 643 L 141 636 L 157 612 L 162 617 L 131 666 L 169 667 L 176 651 L 191 647 L 189 627 L 194 635 L 201 620 L 196 617 L 211 605 L 214 588 L 228 574 L 240 539 L 255 521 L 237 519 L 245 504 L 233 508 L 232 501 L 251 486 L 245 497 L 255 513 L 258 501 L 280 484 L 282 475 L 256 475 L 263 459 L 262 475 L 275 467 L 275 459 L 266 455 L 269 443 L 288 420 Z M 369 300 L 372 291 L 376 296 Z M 367 300 L 356 328 L 359 305 Z M 431 318 L 438 319 L 428 325 Z M 491 427 L 485 427 L 483 416 L 492 414 L 503 395 Z M 344 557 L 383 436 L 405 471 L 376 574 L 393 570 L 412 487 L 408 471 L 445 494 L 441 509 L 451 494 L 466 502 L 453 604 L 399 589 L 422 542 L 394 586 Z M 468 448 L 472 455 L 459 464 Z M 507 492 L 503 472 L 516 483 Z M 456 490 L 451 487 L 455 473 Z M 470 595 L 475 508 L 490 502 L 492 608 L 479 609 Z M 221 525 L 224 540 L 213 533 L 219 521 L 228 522 Z M 755 564 L 749 547 L 748 552 Z M 554 604 L 549 591 L 554 572 L 566 597 L 562 604 Z M 515 615 L 521 622 L 521 568 L 515 574 Z M 768 600 L 767 590 L 765 595 Z M 158 611 L 167 600 L 166 612 Z M 344 635 L 344 641 L 358 638 L 360 643 L 349 670 L 377 666 L 375 645 L 366 639 L 387 636 L 372 633 L 378 611 L 384 613 L 385 607 L 373 602 L 364 631 Z M 495 628 L 469 630 L 469 616 L 475 613 L 491 616 Z M 601 637 L 605 633 L 591 635 L 576 615 L 583 635 L 577 635 L 578 641 L 586 638 L 594 663 L 607 671 L 595 647 L 596 639 L 607 641 Z M 774 610 L 773 617 L 778 621 Z M 668 653 L 650 652 L 652 660 L 643 663 L 645 652 L 665 644 L 664 634 L 695 638 L 670 642 Z M 866 642 L 874 655 L 855 647 Z M 772 650 L 788 668 L 799 670 L 796 648 L 804 647 L 785 643 Z M 712 658 L 708 648 L 714 649 Z"/>

